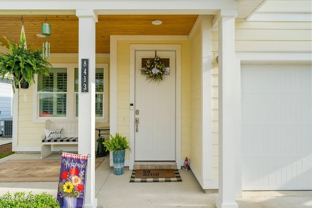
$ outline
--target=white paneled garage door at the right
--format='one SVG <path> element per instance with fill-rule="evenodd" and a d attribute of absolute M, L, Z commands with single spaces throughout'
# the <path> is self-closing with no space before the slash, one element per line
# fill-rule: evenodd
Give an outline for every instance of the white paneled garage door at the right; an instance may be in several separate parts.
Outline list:
<path fill-rule="evenodd" d="M 312 189 L 310 66 L 243 65 L 243 190 Z"/>

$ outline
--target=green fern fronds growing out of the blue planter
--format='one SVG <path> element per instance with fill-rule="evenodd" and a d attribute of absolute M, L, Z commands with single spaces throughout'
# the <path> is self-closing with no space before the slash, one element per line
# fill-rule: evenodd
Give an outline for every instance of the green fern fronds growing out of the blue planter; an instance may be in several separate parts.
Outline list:
<path fill-rule="evenodd" d="M 128 140 L 125 136 L 119 135 L 119 133 L 116 133 L 115 136 L 111 135 L 111 139 L 107 140 L 106 142 L 103 142 L 103 145 L 106 147 L 106 151 L 115 152 L 118 150 L 130 150 L 130 146 L 128 143 Z"/>

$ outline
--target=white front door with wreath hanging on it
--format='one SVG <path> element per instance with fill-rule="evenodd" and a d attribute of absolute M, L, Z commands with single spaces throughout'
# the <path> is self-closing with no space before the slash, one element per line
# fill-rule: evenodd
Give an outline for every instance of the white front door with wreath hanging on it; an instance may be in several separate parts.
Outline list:
<path fill-rule="evenodd" d="M 156 55 L 169 61 L 169 75 L 159 83 L 141 74 L 142 59 L 144 64 L 144 58 L 155 57 L 155 51 L 136 51 L 136 161 L 176 160 L 176 52 L 157 51 Z"/>

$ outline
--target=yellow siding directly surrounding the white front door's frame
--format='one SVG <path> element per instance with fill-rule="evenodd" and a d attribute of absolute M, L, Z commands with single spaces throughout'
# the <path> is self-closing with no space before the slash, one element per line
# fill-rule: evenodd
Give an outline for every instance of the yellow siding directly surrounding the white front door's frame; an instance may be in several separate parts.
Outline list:
<path fill-rule="evenodd" d="M 117 132 L 127 138 L 130 136 L 130 44 L 181 44 L 181 159 L 190 158 L 190 68 L 187 41 L 117 41 Z"/>

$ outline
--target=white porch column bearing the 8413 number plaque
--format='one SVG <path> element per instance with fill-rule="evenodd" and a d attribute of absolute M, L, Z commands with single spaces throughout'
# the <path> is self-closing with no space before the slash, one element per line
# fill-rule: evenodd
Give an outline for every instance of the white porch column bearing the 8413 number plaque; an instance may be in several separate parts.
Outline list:
<path fill-rule="evenodd" d="M 98 16 L 93 10 L 77 10 L 76 16 L 79 18 L 78 153 L 91 155 L 86 172 L 84 208 L 96 208 L 98 199 L 95 198 L 95 68 Z M 81 89 L 82 59 L 88 59 L 88 92 L 82 92 Z"/>

